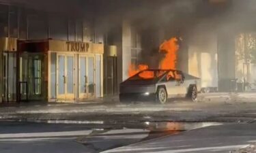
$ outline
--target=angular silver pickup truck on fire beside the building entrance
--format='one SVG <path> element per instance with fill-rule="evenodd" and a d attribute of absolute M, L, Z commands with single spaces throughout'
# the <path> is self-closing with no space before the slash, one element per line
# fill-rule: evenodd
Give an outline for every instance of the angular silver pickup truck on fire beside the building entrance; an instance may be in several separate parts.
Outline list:
<path fill-rule="evenodd" d="M 166 103 L 169 98 L 186 97 L 197 101 L 200 78 L 178 70 L 146 69 L 122 82 L 120 102 L 157 101 Z"/>

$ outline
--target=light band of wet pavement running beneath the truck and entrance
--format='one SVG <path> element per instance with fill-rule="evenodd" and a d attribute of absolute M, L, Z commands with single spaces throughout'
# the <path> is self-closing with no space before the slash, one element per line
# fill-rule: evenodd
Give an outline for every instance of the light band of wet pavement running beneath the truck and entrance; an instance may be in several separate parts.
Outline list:
<path fill-rule="evenodd" d="M 255 93 L 210 93 L 199 95 L 193 103 L 175 100 L 156 103 L 122 104 L 115 100 L 86 101 L 81 103 L 21 103 L 0 107 L 1 120 L 24 120 L 56 123 L 101 123 L 209 121 L 248 122 L 256 118 Z M 232 115 L 231 115 L 232 114 Z"/>

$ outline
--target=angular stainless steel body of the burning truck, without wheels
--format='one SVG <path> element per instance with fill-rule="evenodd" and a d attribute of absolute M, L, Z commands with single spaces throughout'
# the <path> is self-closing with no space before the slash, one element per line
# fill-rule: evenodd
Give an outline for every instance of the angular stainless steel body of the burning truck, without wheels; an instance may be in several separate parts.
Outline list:
<path fill-rule="evenodd" d="M 145 71 L 165 71 L 165 73 L 150 80 L 143 78 L 134 80 L 134 76 L 139 75 L 141 72 L 137 73 L 136 75 L 128 78 L 128 80 L 120 84 L 120 98 L 122 97 L 132 99 L 132 96 L 134 96 L 136 99 L 140 99 L 140 97 L 144 99 L 147 97 L 147 95 L 154 97 L 159 87 L 164 87 L 166 89 L 169 98 L 186 97 L 190 86 L 196 86 L 197 90 L 201 89 L 199 78 L 188 75 L 186 73 L 182 73 L 182 71 L 171 69 L 148 69 Z M 167 80 L 166 78 L 169 73 L 179 73 L 181 78 Z"/>

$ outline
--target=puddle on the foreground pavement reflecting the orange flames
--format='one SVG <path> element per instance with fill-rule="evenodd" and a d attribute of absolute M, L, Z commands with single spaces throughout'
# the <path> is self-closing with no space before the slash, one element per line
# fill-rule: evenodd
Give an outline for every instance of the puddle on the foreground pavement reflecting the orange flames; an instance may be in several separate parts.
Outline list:
<path fill-rule="evenodd" d="M 76 139 L 98 152 L 110 150 L 132 143 L 138 143 L 159 137 L 175 135 L 182 131 L 215 126 L 218 122 L 141 122 L 141 124 L 123 124 L 121 129 L 94 129 L 91 134 Z M 141 129 L 133 129 L 140 127 Z M 108 141 L 108 143 L 106 143 Z"/>

